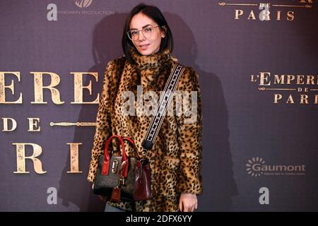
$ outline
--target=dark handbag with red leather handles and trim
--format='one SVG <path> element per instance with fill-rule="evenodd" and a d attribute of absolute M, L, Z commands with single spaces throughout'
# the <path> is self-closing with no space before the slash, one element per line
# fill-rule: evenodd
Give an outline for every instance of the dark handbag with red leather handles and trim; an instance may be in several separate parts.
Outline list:
<path fill-rule="evenodd" d="M 108 147 L 112 139 L 117 138 L 121 155 L 111 155 Z M 131 138 L 113 135 L 105 144 L 104 155 L 100 156 L 98 171 L 93 186 L 94 194 L 106 196 L 114 202 L 141 201 L 151 198 L 151 169 L 146 157 L 128 157 L 124 141 L 136 145 Z"/>

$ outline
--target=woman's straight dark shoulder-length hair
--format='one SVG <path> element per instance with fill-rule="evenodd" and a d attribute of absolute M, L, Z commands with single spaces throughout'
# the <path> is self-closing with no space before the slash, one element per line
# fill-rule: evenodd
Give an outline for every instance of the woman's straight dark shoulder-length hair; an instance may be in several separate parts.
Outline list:
<path fill-rule="evenodd" d="M 131 19 L 138 13 L 142 12 L 149 18 L 153 19 L 155 23 L 158 23 L 161 30 L 165 31 L 165 37 L 161 40 L 160 43 L 160 49 L 159 52 L 162 52 L 164 49 L 169 48 L 172 52 L 173 50 L 173 37 L 172 32 L 169 28 L 169 25 L 167 25 L 167 21 L 165 20 L 165 17 L 163 16 L 163 13 L 161 13 L 160 9 L 155 6 L 147 6 L 145 4 L 139 4 L 138 6 L 135 6 L 129 15 L 126 18 L 126 22 L 124 25 L 124 32 L 122 34 L 122 49 L 124 51 L 124 54 L 126 55 L 126 58 L 134 64 L 134 60 L 131 57 L 131 54 L 129 53 L 129 48 L 136 47 L 134 46 L 133 42 L 127 37 L 126 32 L 129 31 L 129 25 L 131 23 Z M 165 29 L 164 29 L 164 28 Z"/>

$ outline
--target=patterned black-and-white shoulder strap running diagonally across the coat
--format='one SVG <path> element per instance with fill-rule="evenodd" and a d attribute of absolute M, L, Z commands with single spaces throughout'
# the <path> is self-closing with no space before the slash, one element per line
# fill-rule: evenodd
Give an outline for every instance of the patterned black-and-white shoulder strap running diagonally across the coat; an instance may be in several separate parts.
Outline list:
<path fill-rule="evenodd" d="M 158 131 L 161 125 L 163 124 L 165 112 L 167 112 L 167 108 L 170 105 L 173 93 L 177 88 L 177 83 L 179 82 L 179 78 L 182 76 L 184 69 L 185 67 L 182 64 L 175 64 L 167 80 L 167 83 L 165 83 L 163 95 L 160 95 L 159 105 L 155 109 L 155 114 L 151 119 L 151 124 L 148 127 L 148 131 L 146 133 L 145 138 L 143 139 L 143 157 L 146 157 L 146 151 L 151 150 L 151 148 L 153 148 L 155 138 L 157 138 Z"/>

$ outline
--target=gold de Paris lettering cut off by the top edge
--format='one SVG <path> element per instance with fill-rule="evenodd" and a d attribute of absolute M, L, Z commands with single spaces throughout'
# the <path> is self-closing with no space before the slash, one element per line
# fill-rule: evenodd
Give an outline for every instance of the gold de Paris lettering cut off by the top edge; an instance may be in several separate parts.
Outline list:
<path fill-rule="evenodd" d="M 239 20 L 259 21 L 293 21 L 298 16 L 298 11 L 310 11 L 315 0 L 285 0 L 285 1 L 254 1 L 234 0 L 217 1 L 222 8 L 231 8 L 232 17 Z"/>

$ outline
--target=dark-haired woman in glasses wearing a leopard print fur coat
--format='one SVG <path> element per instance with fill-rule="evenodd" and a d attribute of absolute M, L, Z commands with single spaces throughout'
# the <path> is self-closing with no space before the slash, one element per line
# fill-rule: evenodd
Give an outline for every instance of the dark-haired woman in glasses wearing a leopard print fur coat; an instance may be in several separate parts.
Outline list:
<path fill-rule="evenodd" d="M 126 104 L 122 95 L 126 91 L 136 95 L 137 88 L 142 88 L 143 93 L 153 91 L 159 96 L 177 63 L 171 55 L 172 47 L 172 33 L 160 10 L 144 4 L 136 6 L 124 26 L 122 48 L 125 55 L 110 61 L 105 72 L 88 181 L 94 181 L 105 141 L 113 134 L 132 138 L 139 155 L 142 154 L 141 143 L 151 117 L 138 112 L 122 114 L 122 106 Z M 155 144 L 147 153 L 151 165 L 152 198 L 134 203 L 107 201 L 106 210 L 190 212 L 197 208 L 196 195 L 202 193 L 202 121 L 198 76 L 192 68 L 186 67 L 176 90 L 197 94 L 196 103 L 191 99 L 192 105 L 197 107 L 191 117 L 195 116 L 196 120 L 187 122 L 189 115 L 186 114 L 165 116 Z M 146 104 L 144 99 L 142 106 Z M 176 99 L 172 103 L 172 106 L 178 104 Z M 134 105 L 138 109 L 138 101 L 134 100 Z M 134 155 L 134 150 L 127 146 L 126 149 L 128 155 Z"/>

